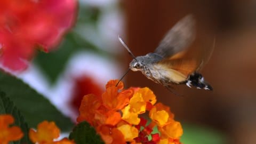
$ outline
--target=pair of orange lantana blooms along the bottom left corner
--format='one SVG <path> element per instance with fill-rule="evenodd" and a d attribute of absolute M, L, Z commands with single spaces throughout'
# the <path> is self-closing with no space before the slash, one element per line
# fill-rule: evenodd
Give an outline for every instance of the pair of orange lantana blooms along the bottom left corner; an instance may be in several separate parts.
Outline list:
<path fill-rule="evenodd" d="M 24 133 L 19 126 L 11 126 L 14 123 L 12 115 L 0 115 L 0 143 L 8 144 L 11 141 L 20 140 Z M 60 136 L 60 129 L 54 122 L 43 121 L 37 125 L 37 130 L 29 130 L 29 139 L 38 144 L 75 144 L 74 141 Z"/>

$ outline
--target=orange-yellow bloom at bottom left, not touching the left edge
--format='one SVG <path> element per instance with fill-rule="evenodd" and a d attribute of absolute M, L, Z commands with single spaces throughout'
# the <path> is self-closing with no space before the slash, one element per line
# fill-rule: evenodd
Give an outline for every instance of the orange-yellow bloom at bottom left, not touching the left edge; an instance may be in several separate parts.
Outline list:
<path fill-rule="evenodd" d="M 54 122 L 43 121 L 37 125 L 37 132 L 30 129 L 29 138 L 36 143 L 53 143 L 53 139 L 57 139 L 60 135 L 59 128 Z"/>

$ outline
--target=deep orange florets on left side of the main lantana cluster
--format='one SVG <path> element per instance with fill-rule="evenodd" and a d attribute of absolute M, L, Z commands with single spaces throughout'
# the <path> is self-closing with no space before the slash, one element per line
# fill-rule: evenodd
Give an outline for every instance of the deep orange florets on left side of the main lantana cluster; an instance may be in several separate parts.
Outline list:
<path fill-rule="evenodd" d="M 116 125 L 121 121 L 121 109 L 128 105 L 133 90 L 123 89 L 123 83 L 117 86 L 117 80 L 106 84 L 106 92 L 101 97 L 93 94 L 85 95 L 79 108 L 77 122 L 87 121 L 93 126 L 102 124 Z"/>

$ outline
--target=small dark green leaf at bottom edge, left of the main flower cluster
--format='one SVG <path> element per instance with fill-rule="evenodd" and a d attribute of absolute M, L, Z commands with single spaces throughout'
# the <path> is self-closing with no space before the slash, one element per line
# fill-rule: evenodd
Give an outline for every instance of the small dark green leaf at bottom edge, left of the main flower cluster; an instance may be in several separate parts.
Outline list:
<path fill-rule="evenodd" d="M 87 122 L 82 122 L 75 126 L 73 132 L 69 135 L 69 139 L 74 140 L 76 144 L 104 143 L 100 135 L 98 135 L 94 128 Z"/>

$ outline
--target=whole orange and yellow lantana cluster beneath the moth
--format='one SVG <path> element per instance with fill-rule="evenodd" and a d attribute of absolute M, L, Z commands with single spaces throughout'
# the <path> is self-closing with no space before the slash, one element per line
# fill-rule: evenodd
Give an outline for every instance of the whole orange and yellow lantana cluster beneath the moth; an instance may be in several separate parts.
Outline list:
<path fill-rule="evenodd" d="M 148 87 L 130 87 L 111 80 L 102 95 L 85 95 L 77 122 L 90 123 L 105 143 L 180 143 L 181 124 L 174 121 L 170 108 L 156 103 Z M 151 121 L 142 114 L 149 112 Z M 158 132 L 153 132 L 157 127 Z"/>

